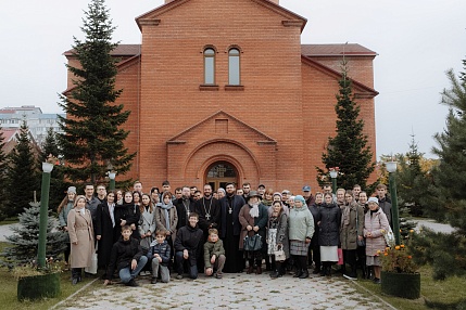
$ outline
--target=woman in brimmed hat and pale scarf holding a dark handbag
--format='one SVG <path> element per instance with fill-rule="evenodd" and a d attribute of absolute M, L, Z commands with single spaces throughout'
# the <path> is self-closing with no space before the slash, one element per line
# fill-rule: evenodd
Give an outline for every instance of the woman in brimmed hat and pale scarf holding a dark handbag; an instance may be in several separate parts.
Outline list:
<path fill-rule="evenodd" d="M 262 273 L 262 245 L 265 241 L 265 227 L 267 225 L 268 212 L 267 207 L 261 204 L 260 198 L 261 195 L 256 191 L 250 191 L 248 204 L 239 211 L 239 222 L 241 224 L 239 248 L 244 249 L 244 256 L 249 261 L 248 274 L 253 272 L 254 267 L 255 274 Z M 244 247 L 244 238 L 247 236 L 248 238 L 261 238 L 261 247 L 253 249 Z"/>

